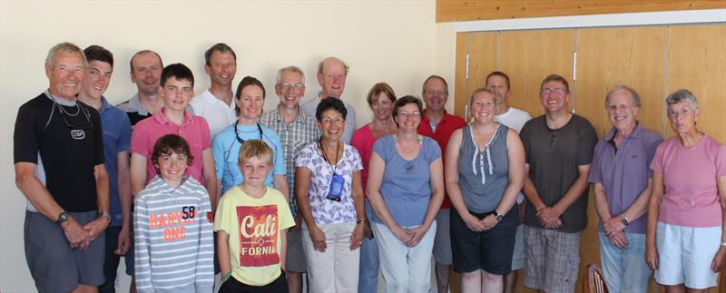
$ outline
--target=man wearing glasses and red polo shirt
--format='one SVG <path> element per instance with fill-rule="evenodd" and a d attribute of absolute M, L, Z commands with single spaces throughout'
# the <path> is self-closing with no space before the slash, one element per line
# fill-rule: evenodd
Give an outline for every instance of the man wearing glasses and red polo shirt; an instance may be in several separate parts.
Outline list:
<path fill-rule="evenodd" d="M 421 95 L 426 103 L 424 118 L 418 124 L 418 134 L 426 135 L 438 142 L 441 153 L 446 153 L 446 143 L 451 133 L 466 125 L 464 119 L 446 112 L 448 100 L 448 83 L 438 75 L 429 76 L 424 81 Z M 443 160 L 444 157 L 442 156 Z M 446 174 L 445 174 L 446 176 Z M 449 273 L 451 270 L 451 237 L 449 236 L 448 216 L 451 201 L 448 195 L 444 197 L 441 210 L 437 215 L 437 235 L 434 240 L 434 260 L 437 262 L 437 288 L 438 292 L 448 291 Z"/>

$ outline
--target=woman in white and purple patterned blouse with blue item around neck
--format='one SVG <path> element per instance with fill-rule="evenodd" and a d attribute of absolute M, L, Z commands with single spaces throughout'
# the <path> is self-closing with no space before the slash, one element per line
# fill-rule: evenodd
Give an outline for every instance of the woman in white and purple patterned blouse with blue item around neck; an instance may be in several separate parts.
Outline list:
<path fill-rule="evenodd" d="M 363 165 L 358 151 L 342 142 L 348 111 L 334 97 L 318 104 L 323 133 L 295 161 L 295 198 L 302 225 L 311 292 L 357 292 L 363 242 Z"/>

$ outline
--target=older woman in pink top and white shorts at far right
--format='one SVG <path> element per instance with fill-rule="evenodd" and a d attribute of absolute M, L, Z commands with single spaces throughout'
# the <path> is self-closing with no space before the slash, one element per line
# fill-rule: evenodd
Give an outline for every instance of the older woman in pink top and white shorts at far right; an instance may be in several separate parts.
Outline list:
<path fill-rule="evenodd" d="M 691 92 L 665 103 L 677 135 L 652 159 L 645 260 L 666 292 L 707 292 L 726 256 L 726 147 L 696 128 Z"/>

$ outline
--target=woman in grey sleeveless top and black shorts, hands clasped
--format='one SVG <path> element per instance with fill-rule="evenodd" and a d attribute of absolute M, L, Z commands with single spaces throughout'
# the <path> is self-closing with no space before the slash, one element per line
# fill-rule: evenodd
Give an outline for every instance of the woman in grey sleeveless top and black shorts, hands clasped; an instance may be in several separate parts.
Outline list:
<path fill-rule="evenodd" d="M 477 89 L 473 122 L 446 146 L 446 191 L 451 199 L 451 250 L 462 292 L 502 292 L 512 271 L 525 180 L 525 148 L 515 130 L 495 122 L 494 93 Z"/>

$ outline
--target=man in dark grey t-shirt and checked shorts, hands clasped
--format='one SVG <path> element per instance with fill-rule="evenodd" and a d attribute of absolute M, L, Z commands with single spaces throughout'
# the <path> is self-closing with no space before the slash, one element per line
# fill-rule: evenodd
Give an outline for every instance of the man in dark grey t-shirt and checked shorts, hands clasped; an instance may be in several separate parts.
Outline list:
<path fill-rule="evenodd" d="M 587 176 L 597 133 L 569 112 L 567 80 L 549 75 L 540 85 L 544 115 L 520 132 L 525 145 L 525 286 L 574 292 L 580 233 L 587 226 Z"/>

